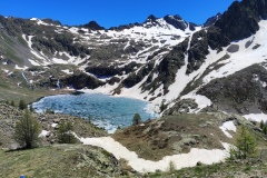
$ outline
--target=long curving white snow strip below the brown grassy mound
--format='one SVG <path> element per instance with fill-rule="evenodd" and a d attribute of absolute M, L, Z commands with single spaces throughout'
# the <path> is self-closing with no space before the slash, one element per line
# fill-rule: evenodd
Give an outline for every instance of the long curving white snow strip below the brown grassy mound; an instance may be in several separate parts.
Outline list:
<path fill-rule="evenodd" d="M 75 134 L 73 134 L 75 135 Z M 192 148 L 188 154 L 180 154 L 174 156 L 166 156 L 159 161 L 151 161 L 139 158 L 136 152 L 128 150 L 118 141 L 115 141 L 110 137 L 101 138 L 79 138 L 75 135 L 83 145 L 97 146 L 111 152 L 117 159 L 128 160 L 128 165 L 139 172 L 155 172 L 156 170 L 166 171 L 168 170 L 169 162 L 174 162 L 177 169 L 185 167 L 194 167 L 198 161 L 211 165 L 214 162 L 219 162 L 228 157 L 228 150 L 230 145 L 221 142 L 225 147 L 224 150 L 220 149 L 198 149 Z"/>

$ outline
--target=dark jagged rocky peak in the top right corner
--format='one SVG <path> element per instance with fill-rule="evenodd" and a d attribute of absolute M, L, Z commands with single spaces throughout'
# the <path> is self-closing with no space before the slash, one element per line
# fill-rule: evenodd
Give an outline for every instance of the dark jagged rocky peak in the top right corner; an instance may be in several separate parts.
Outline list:
<path fill-rule="evenodd" d="M 235 1 L 215 22 L 231 41 L 250 37 L 258 29 L 258 21 L 267 19 L 267 0 Z"/>

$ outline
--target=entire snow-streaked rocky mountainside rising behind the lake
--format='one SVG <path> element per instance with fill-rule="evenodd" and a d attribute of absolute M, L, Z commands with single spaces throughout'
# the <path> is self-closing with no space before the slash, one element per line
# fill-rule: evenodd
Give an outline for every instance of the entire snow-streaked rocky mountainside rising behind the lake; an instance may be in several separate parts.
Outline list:
<path fill-rule="evenodd" d="M 179 16 L 149 16 L 144 23 L 110 29 L 93 21 L 68 27 L 50 19 L 0 17 L 2 75 L 23 70 L 37 88 L 55 89 L 60 82 L 61 88 L 138 98 L 165 115 L 210 109 L 261 113 L 267 103 L 260 75 L 266 61 L 266 4 L 235 1 L 205 26 Z M 229 85 L 238 71 L 250 76 Z M 250 81 L 260 91 L 244 85 Z M 253 97 L 237 95 L 241 89 Z"/>

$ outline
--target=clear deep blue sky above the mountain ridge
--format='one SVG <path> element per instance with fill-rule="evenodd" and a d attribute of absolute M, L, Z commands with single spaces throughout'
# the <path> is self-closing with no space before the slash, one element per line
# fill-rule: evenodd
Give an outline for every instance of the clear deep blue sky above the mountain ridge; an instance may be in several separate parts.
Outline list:
<path fill-rule="evenodd" d="M 0 14 L 50 18 L 63 24 L 96 20 L 106 28 L 144 22 L 149 14 L 179 14 L 188 22 L 204 23 L 224 12 L 234 0 L 1 0 Z"/>

